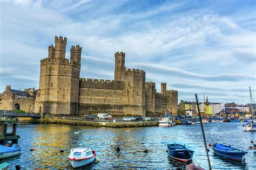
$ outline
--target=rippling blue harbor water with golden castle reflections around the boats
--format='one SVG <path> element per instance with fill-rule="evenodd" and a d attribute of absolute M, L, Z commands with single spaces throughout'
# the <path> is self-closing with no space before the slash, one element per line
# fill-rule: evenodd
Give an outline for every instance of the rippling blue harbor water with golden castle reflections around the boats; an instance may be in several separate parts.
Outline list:
<path fill-rule="evenodd" d="M 256 142 L 256 132 L 244 132 L 245 123 L 204 124 L 208 143 L 230 144 L 248 151 L 244 162 L 235 162 L 213 154 L 210 147 L 210 160 L 213 169 L 256 169 L 256 150 L 250 150 L 251 140 Z M 200 125 L 178 125 L 170 128 L 156 126 L 146 128 L 96 128 L 58 124 L 19 124 L 17 134 L 22 153 L 16 157 L 0 160 L 8 162 L 10 168 L 72 168 L 68 160 L 74 147 L 91 147 L 97 151 L 99 163 L 83 168 L 185 168 L 185 164 L 167 156 L 168 143 L 185 144 L 194 150 L 195 164 L 208 168 Z M 79 131 L 79 134 L 74 132 Z M 120 152 L 116 152 L 116 147 Z M 35 151 L 30 151 L 35 148 Z M 60 150 L 64 150 L 60 153 Z M 147 149 L 149 152 L 144 153 Z"/>

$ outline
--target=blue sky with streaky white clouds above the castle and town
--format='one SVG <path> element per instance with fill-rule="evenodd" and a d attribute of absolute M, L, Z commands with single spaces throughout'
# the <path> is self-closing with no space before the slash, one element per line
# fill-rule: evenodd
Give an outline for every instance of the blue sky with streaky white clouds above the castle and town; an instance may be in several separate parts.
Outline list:
<path fill-rule="evenodd" d="M 180 100 L 249 103 L 255 94 L 255 1 L 1 1 L 0 91 L 38 88 L 56 35 L 83 47 L 80 77 L 113 79 L 114 53 Z M 255 95 L 254 95 L 255 96 Z M 254 97 L 255 98 L 255 97 Z"/>

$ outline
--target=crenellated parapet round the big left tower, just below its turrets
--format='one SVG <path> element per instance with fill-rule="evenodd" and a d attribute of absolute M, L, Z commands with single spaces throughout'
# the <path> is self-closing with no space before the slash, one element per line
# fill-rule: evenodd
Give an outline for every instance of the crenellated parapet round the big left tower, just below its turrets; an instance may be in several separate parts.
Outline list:
<path fill-rule="evenodd" d="M 81 64 L 75 61 L 69 61 L 69 59 L 56 59 L 56 58 L 44 58 L 40 61 L 40 65 L 48 65 L 48 64 L 58 64 L 58 65 L 69 65 L 80 67 Z"/>

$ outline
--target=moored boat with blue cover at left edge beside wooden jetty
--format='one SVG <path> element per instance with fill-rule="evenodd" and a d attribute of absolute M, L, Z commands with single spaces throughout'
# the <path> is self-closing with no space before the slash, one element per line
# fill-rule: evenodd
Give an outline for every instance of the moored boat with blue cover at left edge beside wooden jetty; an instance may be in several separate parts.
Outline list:
<path fill-rule="evenodd" d="M 11 147 L 0 145 L 0 159 L 14 157 L 21 153 L 21 148 L 17 144 Z"/>

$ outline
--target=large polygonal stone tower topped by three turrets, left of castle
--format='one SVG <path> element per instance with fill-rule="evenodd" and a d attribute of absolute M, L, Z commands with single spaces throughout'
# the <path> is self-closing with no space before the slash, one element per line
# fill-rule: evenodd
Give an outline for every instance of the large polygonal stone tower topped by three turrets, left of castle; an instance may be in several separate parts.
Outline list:
<path fill-rule="evenodd" d="M 82 48 L 72 46 L 65 59 L 67 39 L 55 37 L 55 48 L 48 47 L 48 58 L 41 60 L 35 112 L 78 114 L 80 59 Z"/>

